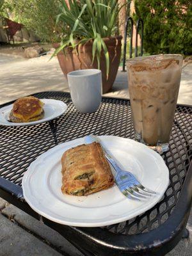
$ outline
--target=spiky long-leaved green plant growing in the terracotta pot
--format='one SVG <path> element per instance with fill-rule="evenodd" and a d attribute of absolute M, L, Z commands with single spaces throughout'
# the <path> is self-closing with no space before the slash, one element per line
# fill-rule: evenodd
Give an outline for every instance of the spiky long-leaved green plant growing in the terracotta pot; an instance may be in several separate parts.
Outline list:
<path fill-rule="evenodd" d="M 122 6 L 116 0 L 61 0 L 61 13 L 56 24 L 62 22 L 61 45 L 54 52 L 58 54 L 65 47 L 76 49 L 77 45 L 92 40 L 93 61 L 97 58 L 100 68 L 100 55 L 106 58 L 106 75 L 109 74 L 109 52 L 103 38 L 118 34 L 118 13 Z M 64 51 L 65 52 L 65 51 Z"/>

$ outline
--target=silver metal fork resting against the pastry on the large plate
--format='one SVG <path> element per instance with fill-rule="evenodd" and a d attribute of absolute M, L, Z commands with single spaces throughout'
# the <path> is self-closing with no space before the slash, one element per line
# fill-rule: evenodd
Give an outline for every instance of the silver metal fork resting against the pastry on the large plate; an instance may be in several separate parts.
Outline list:
<path fill-rule="evenodd" d="M 102 146 L 99 137 L 96 135 L 88 135 L 84 137 L 84 141 L 87 144 L 92 143 L 93 141 L 100 143 L 106 158 L 116 171 L 116 185 L 125 196 L 140 201 L 141 199 L 147 199 L 149 196 L 156 195 L 156 192 L 141 185 L 131 172 L 124 171 L 120 166 L 118 166 L 113 157 L 109 154 L 108 150 Z"/>

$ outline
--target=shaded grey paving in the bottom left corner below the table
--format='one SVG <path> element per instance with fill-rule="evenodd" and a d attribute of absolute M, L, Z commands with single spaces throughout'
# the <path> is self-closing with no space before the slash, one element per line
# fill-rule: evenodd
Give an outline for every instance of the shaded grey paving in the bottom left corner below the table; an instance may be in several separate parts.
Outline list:
<path fill-rule="evenodd" d="M 6 253 L 8 256 L 83 256 L 72 244 L 68 243 L 64 237 L 58 234 L 58 232 L 40 223 L 40 221 L 26 214 L 26 212 L 20 211 L 19 208 L 6 203 L 1 198 L 0 209 L 0 256 L 6 255 Z M 34 239 L 31 237 L 34 237 Z M 28 244 L 29 239 L 31 239 L 30 244 Z M 4 243 L 4 240 L 8 241 Z M 38 240 L 38 243 L 36 240 Z M 11 246 L 9 246 L 9 243 Z M 33 252 L 34 246 L 36 252 Z M 22 254 L 17 253 L 17 251 L 20 252 L 19 248 Z"/>

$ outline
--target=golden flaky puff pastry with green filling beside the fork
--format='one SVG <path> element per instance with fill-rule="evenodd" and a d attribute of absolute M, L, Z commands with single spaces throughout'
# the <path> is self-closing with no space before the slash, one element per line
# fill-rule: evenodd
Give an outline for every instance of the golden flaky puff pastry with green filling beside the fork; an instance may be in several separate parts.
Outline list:
<path fill-rule="evenodd" d="M 68 195 L 90 195 L 114 184 L 109 163 L 97 142 L 68 149 L 61 164 L 61 191 Z"/>

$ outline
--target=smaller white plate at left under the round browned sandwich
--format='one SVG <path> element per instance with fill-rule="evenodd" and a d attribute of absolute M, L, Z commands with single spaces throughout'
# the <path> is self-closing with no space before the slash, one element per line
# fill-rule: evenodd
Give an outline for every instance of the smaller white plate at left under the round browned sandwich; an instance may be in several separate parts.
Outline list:
<path fill-rule="evenodd" d="M 50 121 L 52 119 L 57 118 L 58 116 L 63 115 L 63 113 L 67 110 L 67 105 L 61 100 L 54 99 L 40 99 L 44 102 L 44 118 L 34 122 L 28 123 L 12 123 L 9 122 L 10 111 L 13 108 L 13 104 L 5 106 L 0 109 L 0 125 L 6 126 L 29 126 L 35 124 L 42 124 L 44 122 Z"/>

